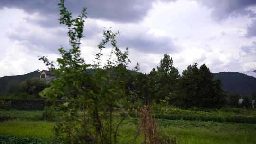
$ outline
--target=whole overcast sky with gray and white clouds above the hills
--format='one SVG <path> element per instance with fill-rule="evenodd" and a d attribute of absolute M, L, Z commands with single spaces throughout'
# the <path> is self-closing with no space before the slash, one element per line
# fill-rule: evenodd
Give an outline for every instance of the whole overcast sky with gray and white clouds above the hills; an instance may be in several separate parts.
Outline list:
<path fill-rule="evenodd" d="M 68 49 L 58 0 L 0 0 L 0 77 L 46 69 Z M 67 0 L 73 15 L 87 7 L 82 55 L 92 63 L 104 27 L 120 31 L 130 68 L 150 72 L 167 53 L 181 73 L 205 63 L 211 72 L 256 69 L 256 0 Z"/>

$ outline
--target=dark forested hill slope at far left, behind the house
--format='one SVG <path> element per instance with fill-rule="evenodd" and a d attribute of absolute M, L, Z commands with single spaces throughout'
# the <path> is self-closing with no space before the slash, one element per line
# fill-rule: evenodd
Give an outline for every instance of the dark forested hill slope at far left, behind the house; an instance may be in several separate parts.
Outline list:
<path fill-rule="evenodd" d="M 24 75 L 4 76 L 0 78 L 0 93 L 16 90 L 18 85 L 27 79 L 39 77 L 40 72 L 34 71 Z"/>

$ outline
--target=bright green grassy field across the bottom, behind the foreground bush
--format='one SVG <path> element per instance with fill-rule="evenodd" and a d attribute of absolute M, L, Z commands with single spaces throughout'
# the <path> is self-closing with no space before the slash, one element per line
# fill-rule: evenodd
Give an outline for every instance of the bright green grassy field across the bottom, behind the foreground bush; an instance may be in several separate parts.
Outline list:
<path fill-rule="evenodd" d="M 48 140 L 54 138 L 55 122 L 39 121 L 41 111 L 0 111 L 1 116 L 16 117 L 15 120 L 0 122 L 0 135 L 15 135 Z M 19 118 L 18 118 L 19 117 Z M 118 118 L 118 117 L 116 117 Z M 136 126 L 129 118 L 120 129 L 120 144 L 133 139 Z M 256 144 L 256 124 L 219 123 L 185 120 L 157 119 L 161 131 L 175 136 L 182 144 Z M 137 139 L 140 144 L 142 136 Z"/>

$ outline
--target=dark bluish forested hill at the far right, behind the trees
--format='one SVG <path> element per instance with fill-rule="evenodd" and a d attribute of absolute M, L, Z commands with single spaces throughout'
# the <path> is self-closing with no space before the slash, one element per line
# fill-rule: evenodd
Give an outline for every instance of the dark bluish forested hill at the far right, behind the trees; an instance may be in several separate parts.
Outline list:
<path fill-rule="evenodd" d="M 223 89 L 231 94 L 251 96 L 256 93 L 256 78 L 238 72 L 214 73 L 214 78 L 220 79 Z"/>

